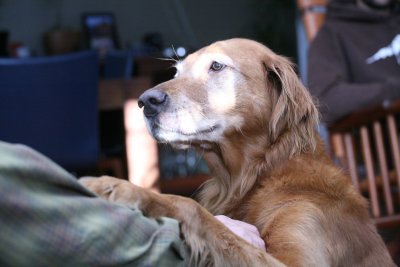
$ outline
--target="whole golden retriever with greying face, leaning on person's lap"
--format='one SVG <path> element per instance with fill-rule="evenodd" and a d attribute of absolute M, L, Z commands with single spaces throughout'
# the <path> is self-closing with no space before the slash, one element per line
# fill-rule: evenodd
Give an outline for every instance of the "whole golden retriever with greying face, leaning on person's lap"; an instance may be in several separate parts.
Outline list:
<path fill-rule="evenodd" d="M 198 202 L 110 177 L 83 183 L 110 201 L 181 223 L 189 266 L 395 266 L 367 201 L 324 152 L 318 111 L 291 62 L 246 39 L 213 43 L 139 98 L 151 134 L 203 153 Z M 266 251 L 213 215 L 255 225 Z M 105 233 L 106 234 L 106 233 Z"/>

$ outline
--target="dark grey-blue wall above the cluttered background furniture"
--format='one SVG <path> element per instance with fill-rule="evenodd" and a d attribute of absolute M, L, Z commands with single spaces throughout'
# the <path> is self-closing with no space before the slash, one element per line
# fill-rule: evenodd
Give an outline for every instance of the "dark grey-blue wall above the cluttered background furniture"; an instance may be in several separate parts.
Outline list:
<path fill-rule="evenodd" d="M 42 35 L 61 24 L 80 29 L 84 12 L 113 12 L 121 46 L 160 32 L 165 45 L 198 48 L 230 37 L 253 37 L 253 0 L 0 0 L 0 29 L 41 54 Z"/>

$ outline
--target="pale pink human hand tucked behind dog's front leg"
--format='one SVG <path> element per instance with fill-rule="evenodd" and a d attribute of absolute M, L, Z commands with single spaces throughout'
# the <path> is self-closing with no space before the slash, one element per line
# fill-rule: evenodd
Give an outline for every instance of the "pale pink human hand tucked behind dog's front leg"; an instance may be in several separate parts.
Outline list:
<path fill-rule="evenodd" d="M 215 218 L 228 227 L 229 230 L 231 230 L 237 236 L 243 238 L 255 247 L 266 250 L 264 240 L 261 239 L 260 233 L 254 225 L 233 220 L 224 215 L 217 215 Z"/>

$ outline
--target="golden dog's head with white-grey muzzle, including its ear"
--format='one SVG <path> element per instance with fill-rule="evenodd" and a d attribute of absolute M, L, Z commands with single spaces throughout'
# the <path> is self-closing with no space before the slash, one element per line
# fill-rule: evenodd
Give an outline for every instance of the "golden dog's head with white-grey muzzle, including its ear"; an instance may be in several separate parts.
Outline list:
<path fill-rule="evenodd" d="M 255 41 L 211 44 L 176 64 L 175 78 L 139 98 L 161 142 L 207 149 L 235 134 L 269 144 L 293 128 L 313 139 L 318 113 L 292 64 Z"/>

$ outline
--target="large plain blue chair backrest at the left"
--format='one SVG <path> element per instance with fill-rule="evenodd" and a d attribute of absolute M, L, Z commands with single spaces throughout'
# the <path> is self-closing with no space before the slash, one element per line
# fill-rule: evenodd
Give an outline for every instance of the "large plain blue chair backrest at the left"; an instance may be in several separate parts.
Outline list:
<path fill-rule="evenodd" d="M 74 171 L 99 154 L 98 56 L 0 59 L 0 140 L 23 143 Z"/>

